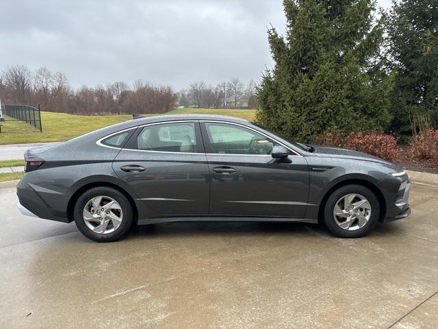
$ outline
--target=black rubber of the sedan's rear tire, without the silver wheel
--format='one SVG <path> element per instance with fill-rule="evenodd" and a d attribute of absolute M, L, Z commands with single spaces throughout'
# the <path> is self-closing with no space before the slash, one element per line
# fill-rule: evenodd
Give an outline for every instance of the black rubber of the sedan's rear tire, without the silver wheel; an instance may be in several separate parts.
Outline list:
<path fill-rule="evenodd" d="M 117 230 L 109 234 L 99 234 L 93 232 L 88 228 L 88 226 L 86 226 L 85 221 L 83 221 L 82 212 L 86 203 L 90 201 L 90 199 L 92 199 L 93 197 L 97 197 L 99 195 L 112 197 L 116 200 L 116 202 L 118 202 L 118 204 L 120 204 L 120 207 L 122 208 L 122 223 L 120 223 L 120 226 L 117 228 Z M 94 187 L 83 193 L 77 199 L 73 214 L 78 230 L 88 239 L 97 242 L 112 242 L 122 239 L 129 233 L 129 230 L 131 229 L 131 224 L 133 222 L 133 211 L 129 200 L 123 193 L 110 187 Z"/>

